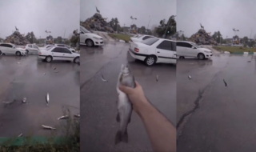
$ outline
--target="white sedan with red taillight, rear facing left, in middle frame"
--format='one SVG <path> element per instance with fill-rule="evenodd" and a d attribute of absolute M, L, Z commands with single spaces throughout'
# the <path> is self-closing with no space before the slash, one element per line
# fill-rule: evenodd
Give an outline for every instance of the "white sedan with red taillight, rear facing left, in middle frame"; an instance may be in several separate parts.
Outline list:
<path fill-rule="evenodd" d="M 130 55 L 153 66 L 154 63 L 176 64 L 176 42 L 164 38 L 148 38 L 142 42 L 130 42 Z"/>

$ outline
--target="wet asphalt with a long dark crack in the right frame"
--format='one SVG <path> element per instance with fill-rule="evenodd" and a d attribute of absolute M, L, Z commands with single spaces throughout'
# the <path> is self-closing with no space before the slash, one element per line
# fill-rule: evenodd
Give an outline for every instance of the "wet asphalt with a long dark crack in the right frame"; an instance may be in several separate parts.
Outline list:
<path fill-rule="evenodd" d="M 256 150 L 255 61 L 228 54 L 178 61 L 177 121 L 190 114 L 178 129 L 178 151 Z"/>

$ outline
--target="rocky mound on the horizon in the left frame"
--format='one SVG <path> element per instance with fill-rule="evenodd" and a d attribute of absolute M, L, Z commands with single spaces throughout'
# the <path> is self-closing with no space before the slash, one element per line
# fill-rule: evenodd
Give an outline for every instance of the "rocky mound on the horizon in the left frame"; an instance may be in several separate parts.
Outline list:
<path fill-rule="evenodd" d="M 11 34 L 9 37 L 6 37 L 6 40 L 4 42 L 10 42 L 16 45 L 26 45 L 30 42 L 26 39 L 25 35 L 20 34 L 18 31 L 15 31 L 13 34 Z"/>

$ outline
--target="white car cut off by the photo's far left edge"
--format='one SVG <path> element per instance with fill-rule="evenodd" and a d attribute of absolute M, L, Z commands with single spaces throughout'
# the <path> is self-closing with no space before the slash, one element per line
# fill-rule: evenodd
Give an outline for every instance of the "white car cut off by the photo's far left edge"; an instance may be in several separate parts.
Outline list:
<path fill-rule="evenodd" d="M 0 54 L 1 55 L 16 54 L 16 55 L 20 56 L 20 55 L 26 55 L 26 50 L 22 49 L 21 47 L 16 46 L 15 44 L 1 43 L 0 44 Z"/>

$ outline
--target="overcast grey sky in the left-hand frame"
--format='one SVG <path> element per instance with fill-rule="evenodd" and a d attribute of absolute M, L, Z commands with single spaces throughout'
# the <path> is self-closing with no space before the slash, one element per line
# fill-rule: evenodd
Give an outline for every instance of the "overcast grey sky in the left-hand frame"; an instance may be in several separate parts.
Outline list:
<path fill-rule="evenodd" d="M 33 31 L 36 38 L 46 38 L 50 30 L 54 38 L 65 38 L 79 29 L 79 0 L 1 0 L 0 38 L 9 36 L 15 26 L 21 34 Z"/>

